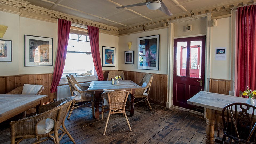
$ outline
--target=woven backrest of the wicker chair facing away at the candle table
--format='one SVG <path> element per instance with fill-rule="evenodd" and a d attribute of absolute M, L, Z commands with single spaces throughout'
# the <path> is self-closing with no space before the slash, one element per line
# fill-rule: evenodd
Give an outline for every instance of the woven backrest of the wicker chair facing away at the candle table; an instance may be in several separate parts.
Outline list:
<path fill-rule="evenodd" d="M 109 109 L 125 109 L 125 103 L 131 91 L 109 91 L 101 94 L 102 99 L 106 99 Z"/>

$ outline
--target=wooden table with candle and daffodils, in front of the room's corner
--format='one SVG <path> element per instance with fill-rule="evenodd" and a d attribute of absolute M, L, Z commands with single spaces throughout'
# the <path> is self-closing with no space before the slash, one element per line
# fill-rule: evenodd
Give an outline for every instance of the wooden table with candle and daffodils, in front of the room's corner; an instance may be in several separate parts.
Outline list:
<path fill-rule="evenodd" d="M 99 115 L 102 111 L 99 111 L 99 98 L 101 97 L 101 93 L 103 89 L 109 90 L 129 90 L 131 91 L 131 108 L 130 108 L 130 116 L 134 115 L 134 94 L 135 89 L 141 89 L 142 87 L 137 85 L 131 80 L 119 81 L 119 84 L 111 84 L 112 81 L 92 81 L 88 91 L 95 92 L 95 119 L 99 119 Z"/>

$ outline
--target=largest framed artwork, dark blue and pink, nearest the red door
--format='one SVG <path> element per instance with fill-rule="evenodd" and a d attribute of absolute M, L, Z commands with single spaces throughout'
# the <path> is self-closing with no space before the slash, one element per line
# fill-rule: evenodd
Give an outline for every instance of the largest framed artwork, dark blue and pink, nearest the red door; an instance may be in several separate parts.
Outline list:
<path fill-rule="evenodd" d="M 138 38 L 138 69 L 159 70 L 159 37 Z"/>

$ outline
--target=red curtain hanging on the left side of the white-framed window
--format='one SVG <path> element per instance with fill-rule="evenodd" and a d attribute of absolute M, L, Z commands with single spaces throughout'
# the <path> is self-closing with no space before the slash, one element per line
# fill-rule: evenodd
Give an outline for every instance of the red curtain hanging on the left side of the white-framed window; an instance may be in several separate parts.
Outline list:
<path fill-rule="evenodd" d="M 71 27 L 71 22 L 59 19 L 58 22 L 58 50 L 55 62 L 55 67 L 53 71 L 53 82 L 51 83 L 50 93 L 57 91 L 57 86 L 61 80 L 61 76 L 64 69 L 66 54 L 67 54 L 67 43 L 69 40 L 69 31 Z"/>

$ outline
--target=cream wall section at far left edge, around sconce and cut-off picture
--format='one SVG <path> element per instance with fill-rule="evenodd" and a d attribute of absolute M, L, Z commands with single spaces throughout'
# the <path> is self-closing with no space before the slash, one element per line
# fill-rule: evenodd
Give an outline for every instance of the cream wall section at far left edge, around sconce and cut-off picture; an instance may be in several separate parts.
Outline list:
<path fill-rule="evenodd" d="M 0 11 L 0 25 L 8 26 L 4 40 L 12 41 L 12 62 L 0 62 L 0 76 L 19 75 L 19 15 Z"/>

